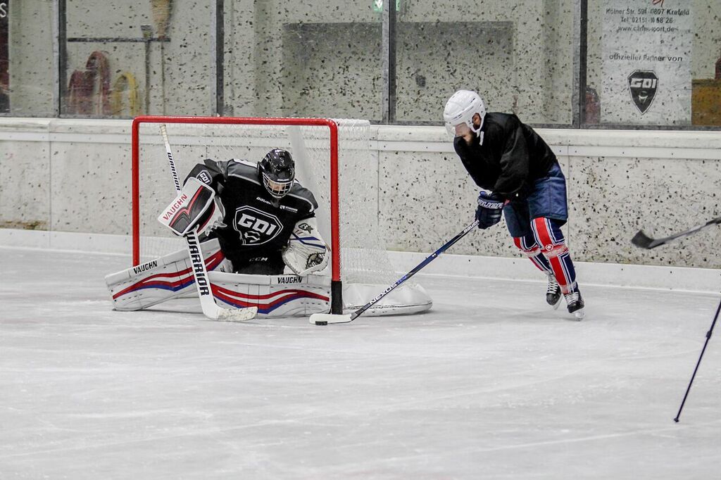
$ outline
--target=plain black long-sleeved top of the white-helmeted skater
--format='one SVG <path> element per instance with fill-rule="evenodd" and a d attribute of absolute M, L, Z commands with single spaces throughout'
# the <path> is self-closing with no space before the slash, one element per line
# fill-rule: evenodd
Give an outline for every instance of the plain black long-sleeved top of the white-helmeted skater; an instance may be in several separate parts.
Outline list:
<path fill-rule="evenodd" d="M 482 145 L 478 137 L 472 145 L 456 137 L 454 148 L 476 185 L 504 200 L 526 198 L 536 179 L 557 162 L 543 138 L 516 115 L 487 113 L 481 131 Z"/>

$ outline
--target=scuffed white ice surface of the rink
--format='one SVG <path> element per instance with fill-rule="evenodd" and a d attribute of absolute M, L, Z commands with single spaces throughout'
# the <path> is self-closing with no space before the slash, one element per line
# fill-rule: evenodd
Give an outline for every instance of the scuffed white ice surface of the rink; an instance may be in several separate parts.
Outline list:
<path fill-rule="evenodd" d="M 719 295 L 418 275 L 427 314 L 226 324 L 112 311 L 125 267 L 0 248 L 0 479 L 721 477 L 721 326 L 673 422 Z"/>

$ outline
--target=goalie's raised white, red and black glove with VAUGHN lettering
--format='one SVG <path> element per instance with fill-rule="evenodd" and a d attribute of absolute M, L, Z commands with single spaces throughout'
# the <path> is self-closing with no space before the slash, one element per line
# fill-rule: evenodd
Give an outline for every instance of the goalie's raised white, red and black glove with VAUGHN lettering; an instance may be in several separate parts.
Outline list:
<path fill-rule="evenodd" d="M 164 208 L 158 221 L 180 236 L 196 227 L 201 231 L 215 211 L 215 195 L 216 192 L 211 187 L 190 177 L 175 200 Z"/>

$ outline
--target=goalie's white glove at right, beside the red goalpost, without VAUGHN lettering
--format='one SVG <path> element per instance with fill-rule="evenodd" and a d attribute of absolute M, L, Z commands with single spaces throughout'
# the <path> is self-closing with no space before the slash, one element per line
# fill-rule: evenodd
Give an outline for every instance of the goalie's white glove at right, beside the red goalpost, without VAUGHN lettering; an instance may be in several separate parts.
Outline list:
<path fill-rule="evenodd" d="M 308 275 L 328 265 L 327 246 L 318 231 L 314 217 L 298 221 L 288 246 L 283 249 L 283 262 L 296 275 Z"/>

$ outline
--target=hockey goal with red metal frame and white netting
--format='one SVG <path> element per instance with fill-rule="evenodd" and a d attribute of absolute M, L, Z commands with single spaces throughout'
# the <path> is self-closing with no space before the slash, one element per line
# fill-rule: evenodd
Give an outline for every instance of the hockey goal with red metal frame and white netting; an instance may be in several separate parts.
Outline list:
<path fill-rule="evenodd" d="M 296 160 L 296 178 L 316 197 L 319 229 L 331 246 L 329 275 L 335 309 L 335 300 L 341 296 L 340 285 L 347 298 L 353 297 L 353 306 L 358 306 L 397 280 L 379 226 L 379 164 L 377 156 L 371 154 L 371 125 L 367 120 L 136 118 L 133 122 L 133 265 L 183 248 L 182 239 L 170 234 L 156 220 L 174 197 L 159 125 L 167 126 L 181 179 L 204 159 L 257 162 L 271 148 L 291 151 Z M 358 285 L 363 293 L 348 292 L 350 285 Z M 410 303 L 418 303 L 416 294 L 425 295 L 417 285 L 408 285 L 407 289 L 420 289 L 411 293 Z M 363 301 L 365 297 L 367 300 Z M 430 298 L 427 308 L 430 308 Z M 427 308 L 404 311 L 394 306 L 386 312 L 378 310 L 376 314 L 410 313 Z"/>

